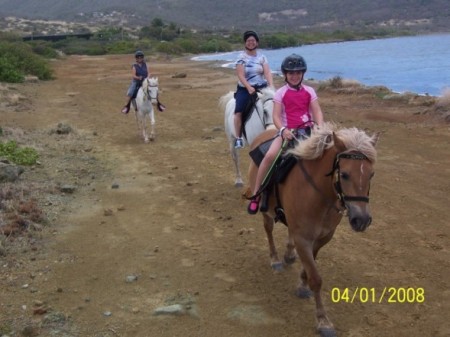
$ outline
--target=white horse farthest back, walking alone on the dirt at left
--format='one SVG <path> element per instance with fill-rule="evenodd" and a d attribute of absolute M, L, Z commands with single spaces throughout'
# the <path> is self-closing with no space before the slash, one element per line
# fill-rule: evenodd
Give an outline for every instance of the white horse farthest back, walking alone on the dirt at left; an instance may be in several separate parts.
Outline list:
<path fill-rule="evenodd" d="M 158 78 L 146 78 L 142 81 L 136 99 L 133 101 L 136 122 L 146 143 L 155 139 L 155 109 L 158 103 Z M 150 120 L 150 136 L 147 133 L 147 119 Z"/>

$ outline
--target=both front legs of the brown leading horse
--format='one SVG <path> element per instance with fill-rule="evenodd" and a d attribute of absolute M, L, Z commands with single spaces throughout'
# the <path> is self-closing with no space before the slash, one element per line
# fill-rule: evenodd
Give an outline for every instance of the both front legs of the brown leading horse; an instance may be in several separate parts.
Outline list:
<path fill-rule="evenodd" d="M 312 290 L 316 302 L 317 331 L 322 337 L 335 337 L 336 330 L 328 318 L 322 302 L 322 278 L 319 275 L 315 261 L 317 251 L 313 253 L 312 243 L 307 242 L 307 240 L 302 241 L 296 241 L 297 252 L 303 265 L 297 296 L 302 298 L 310 297 L 309 289 Z M 309 289 L 307 286 L 309 286 Z"/>

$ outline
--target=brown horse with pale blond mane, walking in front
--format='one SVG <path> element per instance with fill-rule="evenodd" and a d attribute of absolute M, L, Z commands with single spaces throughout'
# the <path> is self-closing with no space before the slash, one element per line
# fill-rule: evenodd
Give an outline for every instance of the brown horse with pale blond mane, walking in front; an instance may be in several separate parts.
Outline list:
<path fill-rule="evenodd" d="M 251 148 L 273 136 L 273 131 L 265 131 Z M 272 235 L 274 223 L 281 219 L 288 227 L 283 262 L 290 264 L 297 256 L 300 258 L 302 271 L 296 294 L 307 298 L 313 292 L 321 336 L 336 336 L 336 331 L 322 303 L 322 279 L 315 260 L 320 248 L 333 237 L 345 212 L 355 231 L 364 231 L 370 225 L 369 188 L 377 140 L 378 134 L 369 136 L 357 128 L 338 129 L 332 123 L 315 128 L 310 138 L 288 151 L 296 163 L 282 182 L 271 187 L 268 211 L 262 213 L 274 269 L 282 267 Z M 256 172 L 252 162 L 251 190 Z"/>

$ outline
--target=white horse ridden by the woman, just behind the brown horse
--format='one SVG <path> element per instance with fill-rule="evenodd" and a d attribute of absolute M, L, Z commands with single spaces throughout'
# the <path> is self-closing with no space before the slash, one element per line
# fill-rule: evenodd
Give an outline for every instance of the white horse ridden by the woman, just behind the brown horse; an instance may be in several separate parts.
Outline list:
<path fill-rule="evenodd" d="M 273 96 L 275 92 L 272 88 L 264 88 L 258 93 L 259 99 L 256 102 L 255 108 L 245 123 L 244 127 L 244 145 L 250 145 L 253 140 L 264 130 L 274 127 L 272 119 L 273 111 Z M 236 169 L 236 180 L 234 185 L 236 187 L 244 186 L 240 170 L 240 160 L 238 151 L 234 148 L 234 141 L 236 139 L 234 129 L 234 107 L 236 101 L 234 99 L 234 92 L 230 91 L 219 99 L 219 107 L 224 111 L 225 117 L 225 133 L 227 134 L 231 158 L 233 159 Z"/>

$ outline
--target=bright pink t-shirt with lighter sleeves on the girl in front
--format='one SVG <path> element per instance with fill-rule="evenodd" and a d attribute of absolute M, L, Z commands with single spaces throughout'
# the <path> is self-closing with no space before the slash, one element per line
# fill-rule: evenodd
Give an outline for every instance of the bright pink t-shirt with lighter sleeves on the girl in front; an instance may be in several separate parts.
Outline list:
<path fill-rule="evenodd" d="M 297 129 L 312 121 L 310 105 L 317 98 L 310 86 L 302 84 L 300 90 L 295 90 L 285 84 L 276 91 L 273 99 L 282 106 L 283 125 L 289 129 Z"/>

